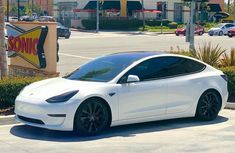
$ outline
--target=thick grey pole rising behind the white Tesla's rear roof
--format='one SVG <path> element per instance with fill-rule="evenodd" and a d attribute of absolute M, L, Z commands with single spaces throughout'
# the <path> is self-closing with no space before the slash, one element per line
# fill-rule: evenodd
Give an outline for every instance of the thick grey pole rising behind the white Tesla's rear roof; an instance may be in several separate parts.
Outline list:
<path fill-rule="evenodd" d="M 196 8 L 196 0 L 192 0 L 191 2 L 191 10 L 190 10 L 190 23 L 189 23 L 189 50 L 195 52 L 195 46 L 194 46 L 194 14 L 195 14 L 195 8 Z"/>

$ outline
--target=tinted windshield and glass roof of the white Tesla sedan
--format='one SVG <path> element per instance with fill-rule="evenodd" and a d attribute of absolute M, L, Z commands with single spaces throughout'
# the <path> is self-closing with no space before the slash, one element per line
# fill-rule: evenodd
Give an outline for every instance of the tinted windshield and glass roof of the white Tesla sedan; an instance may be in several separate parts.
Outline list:
<path fill-rule="evenodd" d="M 115 78 L 133 62 L 148 56 L 149 54 L 112 54 L 100 57 L 81 66 L 65 78 L 70 80 L 108 82 Z"/>

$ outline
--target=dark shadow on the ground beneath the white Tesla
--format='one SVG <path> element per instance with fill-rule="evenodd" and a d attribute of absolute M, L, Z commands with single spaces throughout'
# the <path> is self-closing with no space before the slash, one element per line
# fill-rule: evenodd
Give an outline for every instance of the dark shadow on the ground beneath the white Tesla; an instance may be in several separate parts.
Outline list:
<path fill-rule="evenodd" d="M 226 121 L 228 121 L 228 118 L 223 116 L 218 116 L 217 119 L 215 119 L 214 121 L 208 122 L 197 121 L 194 118 L 155 121 L 112 127 L 97 136 L 90 137 L 78 136 L 73 132 L 47 130 L 27 125 L 16 125 L 11 128 L 10 133 L 14 136 L 25 139 L 55 142 L 82 142 L 110 137 L 134 137 L 136 134 L 141 133 L 161 132 L 179 128 L 206 126 Z"/>

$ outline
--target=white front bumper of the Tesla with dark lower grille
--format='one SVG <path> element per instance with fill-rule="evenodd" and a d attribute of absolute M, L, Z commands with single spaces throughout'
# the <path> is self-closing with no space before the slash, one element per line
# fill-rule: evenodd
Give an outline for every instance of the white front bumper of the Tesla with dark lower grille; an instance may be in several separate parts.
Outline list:
<path fill-rule="evenodd" d="M 15 118 L 19 122 L 35 127 L 72 131 L 77 107 L 70 101 L 50 104 L 32 98 L 17 97 Z"/>

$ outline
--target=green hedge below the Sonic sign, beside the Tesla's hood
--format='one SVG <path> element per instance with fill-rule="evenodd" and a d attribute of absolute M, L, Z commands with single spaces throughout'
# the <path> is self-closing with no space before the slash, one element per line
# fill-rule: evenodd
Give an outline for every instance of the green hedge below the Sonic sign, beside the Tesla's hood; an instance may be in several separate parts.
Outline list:
<path fill-rule="evenodd" d="M 0 80 L 0 108 L 13 106 L 16 96 L 26 85 L 42 79 L 41 77 L 12 77 Z"/>

